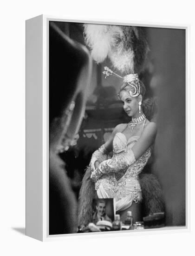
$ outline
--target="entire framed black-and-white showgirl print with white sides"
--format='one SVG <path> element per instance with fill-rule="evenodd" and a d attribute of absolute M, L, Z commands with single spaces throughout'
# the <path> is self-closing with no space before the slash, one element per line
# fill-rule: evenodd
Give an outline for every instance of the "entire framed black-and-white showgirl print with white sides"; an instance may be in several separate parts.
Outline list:
<path fill-rule="evenodd" d="M 27 236 L 188 229 L 187 39 L 187 26 L 26 20 Z"/>

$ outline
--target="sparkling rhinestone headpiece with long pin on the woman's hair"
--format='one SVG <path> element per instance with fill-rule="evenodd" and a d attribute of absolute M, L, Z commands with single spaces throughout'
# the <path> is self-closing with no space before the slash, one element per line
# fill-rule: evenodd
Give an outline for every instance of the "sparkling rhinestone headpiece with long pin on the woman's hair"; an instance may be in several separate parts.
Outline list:
<path fill-rule="evenodd" d="M 135 90 L 134 92 L 129 91 L 131 97 L 136 97 L 140 94 L 140 84 L 139 84 L 138 74 L 127 74 L 124 77 L 122 77 L 114 73 L 109 67 L 104 67 L 103 74 L 105 75 L 105 78 L 107 78 L 109 75 L 113 75 L 113 76 L 122 78 L 124 82 L 127 82 Z M 135 82 L 137 82 L 138 85 Z"/>

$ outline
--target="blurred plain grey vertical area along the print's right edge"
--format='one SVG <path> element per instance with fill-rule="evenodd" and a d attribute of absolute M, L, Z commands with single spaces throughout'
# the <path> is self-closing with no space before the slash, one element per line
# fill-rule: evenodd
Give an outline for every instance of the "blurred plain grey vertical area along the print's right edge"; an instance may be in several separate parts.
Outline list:
<path fill-rule="evenodd" d="M 163 188 L 166 225 L 185 225 L 185 30 L 149 28 L 158 133 L 153 172 Z"/>

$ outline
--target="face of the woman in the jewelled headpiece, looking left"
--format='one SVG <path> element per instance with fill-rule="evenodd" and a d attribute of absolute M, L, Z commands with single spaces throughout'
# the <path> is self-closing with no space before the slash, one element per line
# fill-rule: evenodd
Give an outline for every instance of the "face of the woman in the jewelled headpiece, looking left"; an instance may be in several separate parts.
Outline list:
<path fill-rule="evenodd" d="M 120 92 L 119 97 L 123 101 L 123 109 L 128 116 L 139 116 L 139 99 L 138 97 L 131 97 L 129 92 L 123 90 Z"/>

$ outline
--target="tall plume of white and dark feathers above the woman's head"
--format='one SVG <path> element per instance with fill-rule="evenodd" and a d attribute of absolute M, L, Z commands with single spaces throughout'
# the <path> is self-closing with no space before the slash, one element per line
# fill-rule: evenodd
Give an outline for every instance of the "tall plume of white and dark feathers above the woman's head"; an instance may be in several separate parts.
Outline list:
<path fill-rule="evenodd" d="M 123 74 L 143 71 L 149 51 L 143 27 L 85 24 L 84 36 L 97 63 L 109 57 Z"/>

